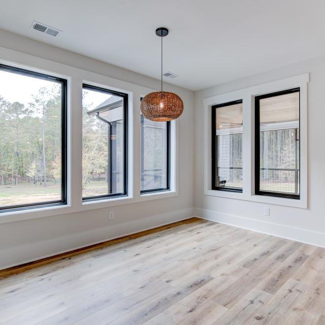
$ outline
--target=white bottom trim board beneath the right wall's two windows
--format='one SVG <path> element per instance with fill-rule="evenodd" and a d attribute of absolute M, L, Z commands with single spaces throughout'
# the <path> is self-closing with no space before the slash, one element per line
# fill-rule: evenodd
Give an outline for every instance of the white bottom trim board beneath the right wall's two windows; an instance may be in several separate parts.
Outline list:
<path fill-rule="evenodd" d="M 268 196 L 258 196 L 253 194 L 247 194 L 244 192 L 243 193 L 226 192 L 226 191 L 219 191 L 219 190 L 212 190 L 212 189 L 206 190 L 204 192 L 204 195 L 307 209 L 307 200 L 303 200 L 302 198 L 300 200 L 295 200 L 295 199 L 285 199 L 285 198 L 276 198 L 276 197 L 268 197 Z"/>

